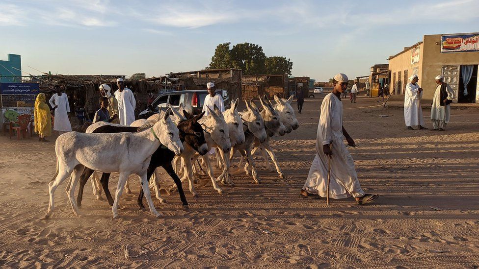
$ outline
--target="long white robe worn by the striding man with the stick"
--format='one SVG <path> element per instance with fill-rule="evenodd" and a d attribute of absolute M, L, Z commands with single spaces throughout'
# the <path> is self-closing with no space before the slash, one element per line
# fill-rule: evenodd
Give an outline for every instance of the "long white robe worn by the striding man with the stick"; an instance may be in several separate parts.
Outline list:
<path fill-rule="evenodd" d="M 329 160 L 322 146 L 330 143 L 332 144 L 330 197 L 343 199 L 364 196 L 354 168 L 354 160 L 343 141 L 343 103 L 332 93 L 328 94 L 321 104 L 316 138 L 317 154 L 303 186 L 308 193 L 317 192 L 321 197 L 327 195 Z"/>

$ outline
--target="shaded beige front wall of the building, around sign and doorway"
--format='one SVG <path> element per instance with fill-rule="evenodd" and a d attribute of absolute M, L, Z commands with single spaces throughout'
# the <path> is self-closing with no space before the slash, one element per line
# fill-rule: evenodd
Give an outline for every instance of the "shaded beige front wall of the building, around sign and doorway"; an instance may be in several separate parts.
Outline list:
<path fill-rule="evenodd" d="M 450 52 L 441 53 L 441 35 L 424 36 L 424 55 L 422 61 L 423 71 L 420 78 L 421 87 L 424 89 L 424 97 L 431 100 L 436 89 L 435 76 L 442 73 L 445 65 L 478 65 L 479 51 L 476 52 Z M 457 98 L 457 93 L 456 93 Z M 457 99 L 456 99 L 457 101 Z"/>

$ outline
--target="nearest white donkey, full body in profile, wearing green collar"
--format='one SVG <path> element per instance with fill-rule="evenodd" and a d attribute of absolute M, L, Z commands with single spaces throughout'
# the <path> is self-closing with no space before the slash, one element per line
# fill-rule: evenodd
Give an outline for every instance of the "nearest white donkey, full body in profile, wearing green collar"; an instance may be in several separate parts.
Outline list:
<path fill-rule="evenodd" d="M 167 110 L 169 112 L 169 109 Z M 60 135 L 55 142 L 56 173 L 48 184 L 50 202 L 45 218 L 49 218 L 54 209 L 54 192 L 58 185 L 73 174 L 66 188 L 73 213 L 79 210 L 75 201 L 75 187 L 85 167 L 102 172 L 120 172 L 115 200 L 111 211 L 118 218 L 118 201 L 125 182 L 130 174 L 140 178 L 141 187 L 148 201 L 150 212 L 156 217 L 161 214 L 155 208 L 148 188 L 147 169 L 151 156 L 164 145 L 176 155 L 180 155 L 183 144 L 180 141 L 178 127 L 168 118 L 168 113 L 153 127 L 138 133 L 84 134 L 68 132 Z M 107 161 L 106 161 L 107 160 Z"/>

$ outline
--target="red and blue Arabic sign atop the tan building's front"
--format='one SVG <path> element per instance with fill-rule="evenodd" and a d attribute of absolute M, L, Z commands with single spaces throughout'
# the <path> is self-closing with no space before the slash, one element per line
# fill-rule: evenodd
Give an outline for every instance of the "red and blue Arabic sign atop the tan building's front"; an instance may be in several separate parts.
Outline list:
<path fill-rule="evenodd" d="M 441 52 L 479 51 L 479 33 L 441 36 Z"/>

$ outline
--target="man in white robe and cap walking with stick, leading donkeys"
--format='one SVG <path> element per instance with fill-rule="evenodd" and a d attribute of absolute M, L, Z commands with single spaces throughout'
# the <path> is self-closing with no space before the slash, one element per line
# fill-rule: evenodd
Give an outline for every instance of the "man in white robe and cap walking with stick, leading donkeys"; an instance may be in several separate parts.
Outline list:
<path fill-rule="evenodd" d="M 359 185 L 354 160 L 347 151 L 347 144 L 355 147 L 354 140 L 343 126 L 343 103 L 341 94 L 346 91 L 348 79 L 343 73 L 333 78 L 333 92 L 326 95 L 321 103 L 318 133 L 316 138 L 316 155 L 304 183 L 300 197 L 319 198 L 327 196 L 328 164 L 330 170 L 330 197 L 344 199 L 354 197 L 358 204 L 371 203 L 379 196 L 366 194 Z"/>

